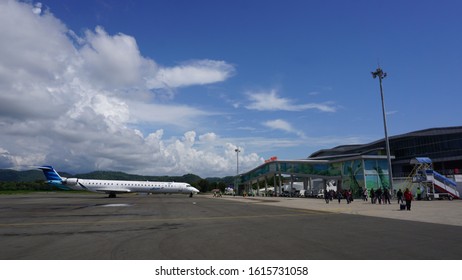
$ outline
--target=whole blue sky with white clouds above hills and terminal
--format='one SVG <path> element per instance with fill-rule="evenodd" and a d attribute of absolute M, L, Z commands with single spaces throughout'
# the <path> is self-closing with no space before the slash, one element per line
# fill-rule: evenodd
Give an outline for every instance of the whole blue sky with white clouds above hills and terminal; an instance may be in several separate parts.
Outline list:
<path fill-rule="evenodd" d="M 1 167 L 226 176 L 236 147 L 375 141 L 379 64 L 389 135 L 460 125 L 460 1 L 2 3 Z"/>

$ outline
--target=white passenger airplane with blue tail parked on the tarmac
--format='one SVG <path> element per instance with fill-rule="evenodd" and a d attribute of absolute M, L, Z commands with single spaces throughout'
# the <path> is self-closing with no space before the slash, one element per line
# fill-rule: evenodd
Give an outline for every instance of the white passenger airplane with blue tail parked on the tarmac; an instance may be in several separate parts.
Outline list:
<path fill-rule="evenodd" d="M 64 190 L 107 193 L 110 198 L 116 197 L 118 193 L 184 193 L 192 197 L 199 192 L 188 183 L 65 178 L 59 176 L 52 166 L 41 166 L 39 169 L 43 171 L 49 185 Z"/>

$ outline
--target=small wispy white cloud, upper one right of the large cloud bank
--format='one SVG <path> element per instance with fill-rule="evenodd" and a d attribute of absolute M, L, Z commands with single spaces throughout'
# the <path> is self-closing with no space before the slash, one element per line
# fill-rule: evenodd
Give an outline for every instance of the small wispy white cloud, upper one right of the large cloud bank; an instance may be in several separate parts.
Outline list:
<path fill-rule="evenodd" d="M 278 96 L 276 90 L 269 92 L 248 92 L 250 104 L 246 106 L 250 110 L 258 111 L 304 111 L 316 109 L 322 112 L 335 112 L 336 108 L 328 103 L 305 103 L 297 104 L 296 101 Z"/>

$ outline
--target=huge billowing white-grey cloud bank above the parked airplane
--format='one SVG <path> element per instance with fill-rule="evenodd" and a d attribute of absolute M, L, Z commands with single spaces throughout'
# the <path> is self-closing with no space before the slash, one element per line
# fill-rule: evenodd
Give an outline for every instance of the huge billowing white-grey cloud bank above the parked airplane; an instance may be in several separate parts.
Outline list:
<path fill-rule="evenodd" d="M 233 144 L 191 129 L 210 113 L 152 97 L 225 81 L 234 72 L 227 62 L 164 67 L 143 57 L 132 36 L 100 26 L 78 36 L 39 3 L 0 1 L 0 37 L 0 168 L 232 174 Z M 172 126 L 186 133 L 167 137 Z M 243 166 L 261 162 L 242 158 Z"/>

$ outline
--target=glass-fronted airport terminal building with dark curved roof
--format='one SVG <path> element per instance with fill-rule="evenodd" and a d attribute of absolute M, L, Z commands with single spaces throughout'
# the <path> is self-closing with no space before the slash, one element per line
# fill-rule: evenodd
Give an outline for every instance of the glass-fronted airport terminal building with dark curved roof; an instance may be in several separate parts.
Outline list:
<path fill-rule="evenodd" d="M 392 136 L 389 143 L 394 183 L 410 175 L 414 168 L 411 160 L 417 157 L 430 158 L 435 171 L 462 181 L 462 126 Z M 302 160 L 265 162 L 239 176 L 239 190 L 250 191 L 255 184 L 265 188 L 271 185 L 276 194 L 281 194 L 284 180 L 277 178 L 289 178 L 291 184 L 303 182 L 305 190 L 316 188 L 314 182 L 319 181 L 323 186 L 335 182 L 338 189 L 350 189 L 354 194 L 364 188 L 389 188 L 385 140 L 324 149 Z"/>

